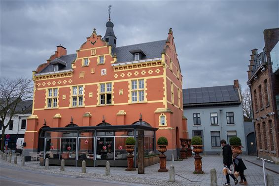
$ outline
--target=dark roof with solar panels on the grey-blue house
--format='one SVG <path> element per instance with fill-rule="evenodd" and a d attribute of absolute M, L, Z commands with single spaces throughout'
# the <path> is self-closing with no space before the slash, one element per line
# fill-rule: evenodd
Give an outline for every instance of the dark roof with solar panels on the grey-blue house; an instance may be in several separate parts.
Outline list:
<path fill-rule="evenodd" d="M 234 85 L 183 89 L 183 106 L 240 104 Z"/>

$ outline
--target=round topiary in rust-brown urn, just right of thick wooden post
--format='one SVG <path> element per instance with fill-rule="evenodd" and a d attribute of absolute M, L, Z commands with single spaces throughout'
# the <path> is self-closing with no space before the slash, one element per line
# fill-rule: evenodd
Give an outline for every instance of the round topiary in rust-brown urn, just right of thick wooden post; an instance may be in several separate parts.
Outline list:
<path fill-rule="evenodd" d="M 166 168 L 166 155 L 164 154 L 165 151 L 167 151 L 167 146 L 168 146 L 168 140 L 165 137 L 160 137 L 157 141 L 158 145 L 158 151 L 161 152 L 159 155 L 160 158 L 160 169 L 158 172 L 168 172 L 169 170 Z"/>

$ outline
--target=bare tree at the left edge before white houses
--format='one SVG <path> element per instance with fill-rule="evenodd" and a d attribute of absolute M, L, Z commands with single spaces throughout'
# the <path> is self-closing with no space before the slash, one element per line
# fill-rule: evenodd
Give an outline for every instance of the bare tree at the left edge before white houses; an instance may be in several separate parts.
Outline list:
<path fill-rule="evenodd" d="M 0 127 L 1 150 L 4 150 L 5 130 L 9 126 L 12 117 L 18 114 L 17 108 L 24 100 L 30 100 L 33 96 L 32 80 L 29 78 L 0 78 Z"/>

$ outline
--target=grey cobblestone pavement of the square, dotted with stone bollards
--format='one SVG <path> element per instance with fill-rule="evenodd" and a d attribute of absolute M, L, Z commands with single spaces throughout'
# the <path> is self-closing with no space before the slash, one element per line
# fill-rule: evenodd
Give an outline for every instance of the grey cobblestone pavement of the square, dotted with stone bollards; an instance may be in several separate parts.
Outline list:
<path fill-rule="evenodd" d="M 256 159 L 255 156 L 244 156 L 251 160 Z M 12 160 L 13 162 L 13 160 Z M 175 183 L 168 182 L 169 172 L 158 172 L 159 164 L 155 164 L 145 168 L 145 174 L 138 174 L 138 171 L 125 171 L 125 168 L 111 167 L 111 176 L 105 176 L 105 167 L 86 167 L 87 173 L 80 173 L 81 167 L 66 166 L 65 171 L 60 171 L 60 166 L 49 166 L 49 169 L 44 169 L 44 166 L 39 166 L 38 161 L 25 162 L 25 166 L 20 165 L 20 158 L 18 164 L 3 162 L 12 166 L 21 167 L 24 169 L 37 170 L 42 172 L 49 172 L 55 174 L 65 174 L 78 176 L 82 178 L 96 178 L 103 180 L 113 180 L 127 183 L 135 183 L 140 185 L 152 186 L 210 186 L 210 169 L 215 168 L 217 171 L 218 186 L 222 186 L 226 182 L 225 176 L 222 174 L 222 157 L 220 156 L 204 156 L 202 159 L 203 171 L 205 174 L 193 174 L 194 158 L 188 158 L 183 161 L 168 161 L 167 168 L 171 164 L 175 169 Z M 247 170 L 244 171 L 245 177 L 249 186 L 264 186 L 263 169 L 257 165 L 244 161 Z M 277 165 L 278 166 L 278 165 Z M 276 166 L 275 166 L 276 168 Z M 279 168 L 279 166 L 278 166 Z M 279 186 L 279 174 L 266 170 L 266 173 L 273 175 L 275 186 Z M 239 178 L 240 179 L 240 178 Z M 231 183 L 232 179 L 231 179 Z"/>

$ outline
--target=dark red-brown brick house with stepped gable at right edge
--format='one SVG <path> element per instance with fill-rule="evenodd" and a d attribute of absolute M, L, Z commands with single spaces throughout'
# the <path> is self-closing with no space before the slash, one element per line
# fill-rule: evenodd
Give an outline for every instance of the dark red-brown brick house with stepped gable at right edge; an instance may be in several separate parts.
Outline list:
<path fill-rule="evenodd" d="M 279 162 L 279 28 L 264 30 L 264 40 L 263 52 L 252 49 L 247 84 L 258 156 Z"/>

